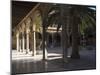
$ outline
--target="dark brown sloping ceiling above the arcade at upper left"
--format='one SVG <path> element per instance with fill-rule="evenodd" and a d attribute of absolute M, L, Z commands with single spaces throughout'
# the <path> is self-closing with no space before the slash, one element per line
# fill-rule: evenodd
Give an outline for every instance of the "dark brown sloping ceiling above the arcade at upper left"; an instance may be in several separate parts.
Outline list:
<path fill-rule="evenodd" d="M 16 27 L 18 23 L 31 11 L 36 5 L 36 2 L 12 1 L 11 2 L 11 21 L 12 28 Z"/>

